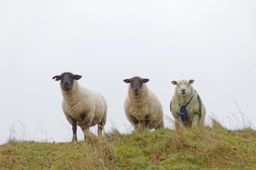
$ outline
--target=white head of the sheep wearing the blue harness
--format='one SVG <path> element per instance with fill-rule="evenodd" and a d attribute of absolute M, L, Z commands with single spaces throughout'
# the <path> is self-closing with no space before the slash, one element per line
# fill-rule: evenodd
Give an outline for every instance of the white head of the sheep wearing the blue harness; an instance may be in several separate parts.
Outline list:
<path fill-rule="evenodd" d="M 186 96 L 191 93 L 191 85 L 195 80 L 180 80 L 180 81 L 172 81 L 173 85 L 176 86 L 176 91 L 179 96 Z"/>

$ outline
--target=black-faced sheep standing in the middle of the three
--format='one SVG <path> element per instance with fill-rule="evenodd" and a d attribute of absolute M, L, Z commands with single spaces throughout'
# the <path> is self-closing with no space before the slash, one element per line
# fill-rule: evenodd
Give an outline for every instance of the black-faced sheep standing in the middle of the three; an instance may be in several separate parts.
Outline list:
<path fill-rule="evenodd" d="M 125 99 L 125 115 L 135 130 L 143 124 L 150 130 L 164 128 L 162 105 L 145 84 L 149 79 L 133 77 L 123 81 L 130 83 Z"/>

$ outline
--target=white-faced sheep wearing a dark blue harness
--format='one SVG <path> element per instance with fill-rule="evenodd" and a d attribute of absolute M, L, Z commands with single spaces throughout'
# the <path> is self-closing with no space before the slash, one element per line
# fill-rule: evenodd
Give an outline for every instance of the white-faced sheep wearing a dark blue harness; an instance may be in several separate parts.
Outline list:
<path fill-rule="evenodd" d="M 193 128 L 197 125 L 204 126 L 204 120 L 206 116 L 206 109 L 204 107 L 204 103 L 201 102 L 201 97 L 194 90 L 192 83 L 195 80 L 180 80 L 180 81 L 172 81 L 173 85 L 176 85 L 174 96 L 171 101 L 171 111 L 172 115 L 175 119 L 175 127 L 184 128 L 192 126 Z M 190 101 L 190 102 L 189 102 Z M 201 118 L 199 117 L 200 109 L 199 102 L 201 102 Z M 187 105 L 187 106 L 186 106 Z M 180 114 L 180 109 L 183 108 L 186 119 L 184 122 L 182 120 L 182 115 Z M 200 120 L 199 120 L 200 119 Z M 191 125 L 192 122 L 192 125 Z"/>

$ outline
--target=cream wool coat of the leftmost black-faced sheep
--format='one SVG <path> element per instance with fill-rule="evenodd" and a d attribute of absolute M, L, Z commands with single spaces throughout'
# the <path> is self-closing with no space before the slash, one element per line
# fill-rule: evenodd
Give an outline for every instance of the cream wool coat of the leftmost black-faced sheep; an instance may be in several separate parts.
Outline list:
<path fill-rule="evenodd" d="M 62 110 L 70 124 L 72 124 L 71 117 L 76 119 L 77 125 L 81 128 L 84 127 L 84 119 L 91 122 L 91 127 L 100 122 L 103 122 L 103 126 L 106 124 L 108 106 L 102 94 L 80 86 L 76 80 L 72 89 L 64 91 L 61 87 L 61 92 Z M 81 113 L 85 113 L 84 119 L 80 117 Z"/>

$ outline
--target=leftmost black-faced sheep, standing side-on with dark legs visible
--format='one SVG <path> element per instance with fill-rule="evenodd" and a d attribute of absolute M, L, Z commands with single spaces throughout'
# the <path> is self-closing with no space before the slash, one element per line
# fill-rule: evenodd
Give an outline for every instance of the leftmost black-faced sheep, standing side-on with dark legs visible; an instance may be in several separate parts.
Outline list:
<path fill-rule="evenodd" d="M 77 74 L 65 72 L 52 79 L 61 80 L 62 110 L 67 121 L 72 125 L 72 141 L 77 141 L 77 125 L 84 132 L 84 139 L 89 135 L 90 127 L 97 124 L 98 136 L 102 136 L 108 109 L 102 94 L 80 86 L 77 80 L 81 79 L 81 76 Z"/>

